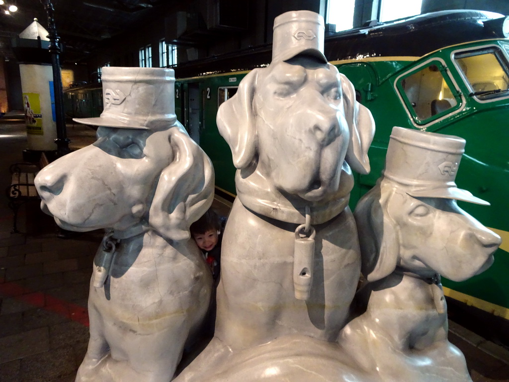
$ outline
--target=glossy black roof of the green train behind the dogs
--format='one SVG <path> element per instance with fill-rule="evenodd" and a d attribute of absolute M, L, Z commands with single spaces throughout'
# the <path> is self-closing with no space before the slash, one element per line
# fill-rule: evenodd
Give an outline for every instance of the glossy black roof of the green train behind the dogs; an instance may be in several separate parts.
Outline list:
<path fill-rule="evenodd" d="M 500 13 L 478 10 L 440 11 L 372 23 L 325 37 L 329 61 L 367 57 L 421 57 L 449 45 L 506 38 L 509 21 Z M 272 44 L 179 64 L 177 78 L 251 70 L 272 58 Z"/>

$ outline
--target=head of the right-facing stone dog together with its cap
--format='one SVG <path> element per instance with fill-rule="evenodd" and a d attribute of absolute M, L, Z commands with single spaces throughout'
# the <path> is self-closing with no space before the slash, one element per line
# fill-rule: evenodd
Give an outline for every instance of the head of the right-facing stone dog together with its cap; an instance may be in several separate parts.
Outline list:
<path fill-rule="evenodd" d="M 362 274 L 368 281 L 380 280 L 396 267 L 464 281 L 493 263 L 500 237 L 456 202 L 488 204 L 454 184 L 464 144 L 458 137 L 394 127 L 384 176 L 354 212 Z M 449 168 L 454 174 L 441 174 L 437 163 L 454 163 L 454 170 Z M 414 178 L 408 181 L 411 173 Z"/>

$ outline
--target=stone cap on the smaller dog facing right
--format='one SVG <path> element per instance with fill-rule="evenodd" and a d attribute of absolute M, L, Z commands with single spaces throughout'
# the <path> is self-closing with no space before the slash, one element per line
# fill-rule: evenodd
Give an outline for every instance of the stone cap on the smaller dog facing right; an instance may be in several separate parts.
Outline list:
<path fill-rule="evenodd" d="M 383 175 L 406 187 L 416 198 L 445 198 L 490 205 L 455 183 L 465 140 L 394 126 Z"/>

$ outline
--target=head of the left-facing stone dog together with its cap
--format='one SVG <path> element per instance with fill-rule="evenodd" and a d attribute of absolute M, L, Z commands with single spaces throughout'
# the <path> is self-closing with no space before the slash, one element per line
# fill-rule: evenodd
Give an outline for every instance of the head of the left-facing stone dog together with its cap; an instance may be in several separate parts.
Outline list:
<path fill-rule="evenodd" d="M 167 239 L 187 239 L 190 224 L 212 201 L 214 172 L 168 112 L 173 70 L 104 69 L 105 110 L 100 118 L 79 120 L 103 126 L 97 141 L 39 172 L 41 208 L 67 230 L 142 224 Z"/>

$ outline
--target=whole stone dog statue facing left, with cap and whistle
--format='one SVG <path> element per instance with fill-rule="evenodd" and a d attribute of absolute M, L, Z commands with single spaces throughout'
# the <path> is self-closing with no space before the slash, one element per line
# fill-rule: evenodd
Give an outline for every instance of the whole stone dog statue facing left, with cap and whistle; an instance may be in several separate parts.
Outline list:
<path fill-rule="evenodd" d="M 212 276 L 189 226 L 214 172 L 174 114 L 172 69 L 103 68 L 97 141 L 37 176 L 67 230 L 106 228 L 90 284 L 90 342 L 76 381 L 162 382 L 204 319 Z"/>

